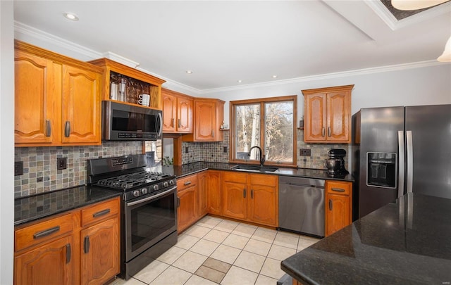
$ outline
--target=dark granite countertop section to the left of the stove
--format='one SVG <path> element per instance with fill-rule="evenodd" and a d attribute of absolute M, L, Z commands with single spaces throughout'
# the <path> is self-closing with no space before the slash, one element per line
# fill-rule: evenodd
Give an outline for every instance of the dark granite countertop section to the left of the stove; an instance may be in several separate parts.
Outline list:
<path fill-rule="evenodd" d="M 121 192 L 95 186 L 78 186 L 69 189 L 45 192 L 14 200 L 14 225 L 25 224 L 85 205 L 97 203 Z"/>

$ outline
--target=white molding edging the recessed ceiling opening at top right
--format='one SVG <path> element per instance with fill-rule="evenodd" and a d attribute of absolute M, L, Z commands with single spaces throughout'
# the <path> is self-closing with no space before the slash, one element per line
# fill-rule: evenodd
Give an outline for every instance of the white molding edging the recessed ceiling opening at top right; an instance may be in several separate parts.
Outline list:
<path fill-rule="evenodd" d="M 364 1 L 366 5 L 368 5 L 373 11 L 381 18 L 391 30 L 397 30 L 402 27 L 407 27 L 409 25 L 413 25 L 416 23 L 423 22 L 424 20 L 428 20 L 438 15 L 442 15 L 445 13 L 450 13 L 451 2 L 447 2 L 444 4 L 440 4 L 438 6 L 429 8 L 420 13 L 416 13 L 415 15 L 411 15 L 402 20 L 397 20 L 395 16 L 390 13 L 387 7 L 381 1 Z"/>

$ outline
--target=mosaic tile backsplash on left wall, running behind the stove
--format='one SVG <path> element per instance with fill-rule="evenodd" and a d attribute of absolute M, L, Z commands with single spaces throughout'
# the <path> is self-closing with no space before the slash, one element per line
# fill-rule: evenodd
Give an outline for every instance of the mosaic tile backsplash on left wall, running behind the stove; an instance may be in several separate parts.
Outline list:
<path fill-rule="evenodd" d="M 14 160 L 23 161 L 23 175 L 14 177 L 14 196 L 30 196 L 85 184 L 87 159 L 137 153 L 142 153 L 141 141 L 112 141 L 101 146 L 15 148 Z M 56 170 L 56 158 L 68 158 L 65 170 Z"/>

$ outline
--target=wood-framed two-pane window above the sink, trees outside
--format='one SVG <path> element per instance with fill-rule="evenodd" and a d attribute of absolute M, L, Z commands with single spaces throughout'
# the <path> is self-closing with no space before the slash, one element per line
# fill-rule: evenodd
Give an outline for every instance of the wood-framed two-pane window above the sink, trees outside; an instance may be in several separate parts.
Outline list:
<path fill-rule="evenodd" d="M 263 149 L 267 164 L 295 166 L 297 96 L 230 102 L 230 160 L 259 161 Z M 243 161 L 244 160 L 244 161 Z"/>

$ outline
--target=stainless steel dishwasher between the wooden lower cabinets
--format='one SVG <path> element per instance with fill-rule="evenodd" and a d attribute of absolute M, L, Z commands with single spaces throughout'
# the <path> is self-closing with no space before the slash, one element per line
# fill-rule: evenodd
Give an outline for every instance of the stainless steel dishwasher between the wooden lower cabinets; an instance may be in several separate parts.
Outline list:
<path fill-rule="evenodd" d="M 279 177 L 279 228 L 324 236 L 324 180 Z"/>

